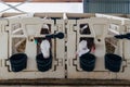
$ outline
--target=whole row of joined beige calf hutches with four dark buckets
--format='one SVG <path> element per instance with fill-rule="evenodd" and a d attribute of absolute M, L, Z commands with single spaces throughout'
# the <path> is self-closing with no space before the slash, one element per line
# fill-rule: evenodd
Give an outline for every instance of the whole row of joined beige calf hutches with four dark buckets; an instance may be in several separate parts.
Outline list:
<path fill-rule="evenodd" d="M 0 79 L 130 79 L 129 32 L 129 18 L 103 14 L 1 17 Z M 49 58 L 41 49 L 44 40 Z"/>

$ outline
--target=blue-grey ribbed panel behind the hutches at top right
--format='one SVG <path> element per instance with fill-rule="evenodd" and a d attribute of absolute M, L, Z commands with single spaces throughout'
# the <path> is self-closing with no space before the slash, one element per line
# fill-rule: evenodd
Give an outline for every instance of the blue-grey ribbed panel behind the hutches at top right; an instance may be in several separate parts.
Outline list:
<path fill-rule="evenodd" d="M 84 13 L 130 13 L 130 0 L 83 0 Z"/>

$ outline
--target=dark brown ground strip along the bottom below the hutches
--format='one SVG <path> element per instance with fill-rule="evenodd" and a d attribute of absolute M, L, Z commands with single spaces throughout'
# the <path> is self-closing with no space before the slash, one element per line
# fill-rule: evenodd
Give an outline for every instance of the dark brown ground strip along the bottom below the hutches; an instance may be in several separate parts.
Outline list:
<path fill-rule="evenodd" d="M 10 79 L 0 80 L 1 87 L 15 86 L 15 87 L 51 87 L 51 86 L 62 86 L 62 87 L 81 87 L 81 86 L 93 86 L 93 87 L 130 87 L 130 80 L 119 80 L 119 79 L 67 79 L 67 78 L 43 78 L 43 79 Z"/>

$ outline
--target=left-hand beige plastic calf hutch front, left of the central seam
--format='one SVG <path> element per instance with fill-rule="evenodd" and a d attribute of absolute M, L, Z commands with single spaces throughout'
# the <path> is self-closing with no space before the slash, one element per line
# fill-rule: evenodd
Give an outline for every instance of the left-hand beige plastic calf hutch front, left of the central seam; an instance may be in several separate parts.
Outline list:
<path fill-rule="evenodd" d="M 9 26 L 6 27 L 6 30 L 9 32 L 10 36 L 8 52 L 9 57 L 11 57 L 11 60 L 3 60 L 5 61 L 5 65 L 2 67 L 2 74 L 4 73 L 5 75 L 2 75 L 2 78 L 64 78 L 64 39 L 54 38 L 50 40 L 52 53 L 48 60 L 43 60 L 41 58 L 39 59 L 40 54 L 37 52 L 37 50 L 39 50 L 39 44 L 41 41 L 38 44 L 35 42 L 35 39 L 41 38 L 42 40 L 46 37 L 46 34 L 40 34 L 43 24 L 49 25 L 50 34 L 58 32 L 64 33 L 63 21 L 61 20 L 56 23 L 56 25 L 54 25 L 53 20 L 43 20 L 39 17 L 9 17 L 6 20 L 9 20 Z M 14 65 L 12 61 L 16 61 L 13 60 L 15 59 L 13 57 L 21 52 L 24 52 L 27 55 L 27 65 L 25 69 L 25 63 L 22 62 L 18 64 L 21 65 L 21 69 L 18 70 L 17 65 Z M 58 55 L 57 52 L 62 53 Z M 36 61 L 37 58 L 38 60 Z M 24 59 L 20 60 L 22 61 Z M 42 65 L 41 61 L 39 60 L 43 60 L 44 63 L 49 61 L 49 65 Z"/>

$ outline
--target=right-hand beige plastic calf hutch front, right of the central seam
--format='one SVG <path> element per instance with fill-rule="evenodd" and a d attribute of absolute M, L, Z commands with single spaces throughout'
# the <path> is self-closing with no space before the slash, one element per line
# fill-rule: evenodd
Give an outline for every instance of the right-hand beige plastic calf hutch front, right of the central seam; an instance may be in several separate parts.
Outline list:
<path fill-rule="evenodd" d="M 68 78 L 116 78 L 116 73 L 109 72 L 105 69 L 104 55 L 106 53 L 105 39 L 112 38 L 114 35 L 109 35 L 108 28 L 109 25 L 116 23 L 120 25 L 120 21 L 108 20 L 105 17 L 92 17 L 92 18 L 82 18 L 82 20 L 69 20 L 67 25 L 67 37 L 68 37 L 68 50 L 67 50 L 67 73 Z M 89 25 L 89 30 L 87 34 L 81 34 L 81 25 Z M 119 27 L 120 29 L 120 27 Z M 88 72 L 84 69 L 80 67 L 79 58 L 76 55 L 76 49 L 81 39 L 88 41 L 88 47 L 91 52 L 95 55 L 95 67 L 93 71 Z M 76 42 L 76 45 L 73 45 Z M 91 45 L 89 45 L 89 42 Z M 94 44 L 93 44 L 94 42 Z M 121 50 L 121 42 L 117 42 L 117 48 Z M 120 47 L 120 46 L 121 47 Z M 92 51 L 92 48 L 95 47 L 95 50 Z M 115 51 L 118 52 L 118 51 Z M 119 51 L 118 54 L 121 55 L 122 51 Z M 87 65 L 87 63 L 86 63 Z M 121 67 L 121 66 L 120 66 Z"/>

